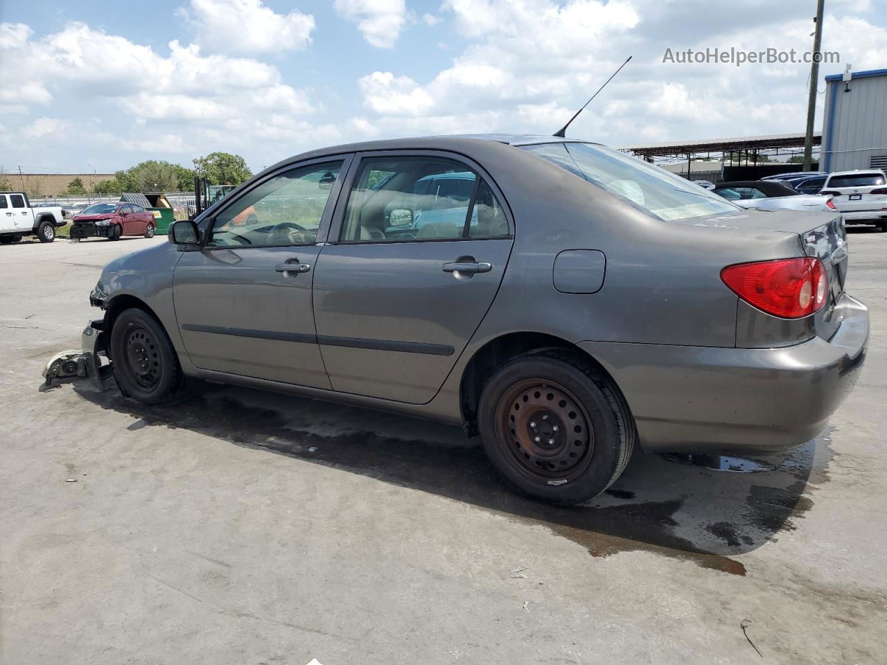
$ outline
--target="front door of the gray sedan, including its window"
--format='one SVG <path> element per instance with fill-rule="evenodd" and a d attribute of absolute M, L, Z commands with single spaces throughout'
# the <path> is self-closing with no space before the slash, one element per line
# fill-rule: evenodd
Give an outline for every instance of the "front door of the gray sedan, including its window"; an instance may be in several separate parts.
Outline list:
<path fill-rule="evenodd" d="M 311 309 L 349 156 L 281 168 L 201 223 L 202 245 L 173 275 L 179 330 L 203 370 L 329 388 Z M 249 210 L 249 222 L 239 223 Z"/>

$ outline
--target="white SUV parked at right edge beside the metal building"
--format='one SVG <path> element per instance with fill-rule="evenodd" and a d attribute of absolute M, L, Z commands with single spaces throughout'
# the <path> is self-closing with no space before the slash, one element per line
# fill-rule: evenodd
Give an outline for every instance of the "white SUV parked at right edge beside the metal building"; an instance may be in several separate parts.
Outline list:
<path fill-rule="evenodd" d="M 833 173 L 820 193 L 832 197 L 844 223 L 875 224 L 887 231 L 887 176 L 880 168 Z"/>

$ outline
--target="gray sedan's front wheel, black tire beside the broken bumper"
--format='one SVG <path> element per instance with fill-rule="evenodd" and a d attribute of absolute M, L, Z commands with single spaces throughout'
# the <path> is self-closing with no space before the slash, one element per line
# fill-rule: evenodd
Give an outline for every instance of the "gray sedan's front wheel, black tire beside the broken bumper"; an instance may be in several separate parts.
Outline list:
<path fill-rule="evenodd" d="M 143 309 L 125 309 L 114 320 L 111 359 L 121 393 L 137 402 L 169 403 L 183 387 L 182 367 L 169 335 Z"/>

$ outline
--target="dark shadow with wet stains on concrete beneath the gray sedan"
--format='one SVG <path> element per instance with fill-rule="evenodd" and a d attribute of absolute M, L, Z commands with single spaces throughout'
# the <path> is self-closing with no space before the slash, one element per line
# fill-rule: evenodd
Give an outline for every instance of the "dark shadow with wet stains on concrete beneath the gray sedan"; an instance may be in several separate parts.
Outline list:
<path fill-rule="evenodd" d="M 181 428 L 313 464 L 360 473 L 541 524 L 595 557 L 647 551 L 744 575 L 730 557 L 784 532 L 812 506 L 805 496 L 813 458 L 828 464 L 828 434 L 788 453 L 748 459 L 662 456 L 636 451 L 616 484 L 586 505 L 559 507 L 519 496 L 459 427 L 380 411 L 200 383 L 167 406 L 145 406 L 82 382 L 75 391 L 137 418 L 130 430 Z M 712 468 L 715 467 L 715 468 Z M 716 470 L 717 467 L 734 471 Z M 744 470 L 744 472 L 743 472 Z"/>

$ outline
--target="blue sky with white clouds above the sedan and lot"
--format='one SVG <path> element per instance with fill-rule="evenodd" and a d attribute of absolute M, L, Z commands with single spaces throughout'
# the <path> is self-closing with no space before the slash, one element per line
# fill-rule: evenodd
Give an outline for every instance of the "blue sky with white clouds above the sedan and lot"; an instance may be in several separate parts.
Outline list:
<path fill-rule="evenodd" d="M 799 132 L 809 65 L 663 56 L 809 51 L 815 5 L 0 0 L 0 167 L 102 173 L 221 150 L 258 169 L 371 137 L 551 134 L 629 55 L 569 136 L 620 147 Z M 887 0 L 826 9 L 823 50 L 840 64 L 821 75 L 887 67 Z"/>

